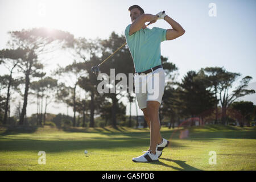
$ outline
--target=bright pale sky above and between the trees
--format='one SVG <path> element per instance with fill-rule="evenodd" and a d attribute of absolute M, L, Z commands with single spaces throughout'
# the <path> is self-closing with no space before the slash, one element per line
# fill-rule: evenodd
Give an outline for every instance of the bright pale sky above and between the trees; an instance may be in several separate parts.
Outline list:
<path fill-rule="evenodd" d="M 216 5 L 216 16 L 209 16 L 212 6 Z M 185 34 L 175 40 L 164 41 L 161 53 L 168 57 L 179 69 L 181 78 L 188 71 L 199 71 L 205 67 L 224 67 L 227 71 L 241 73 L 242 77 L 251 76 L 250 86 L 256 89 L 256 1 L 254 0 L 179 0 L 179 1 L 43 1 L 43 0 L 0 0 L 0 49 L 6 47 L 8 31 L 23 28 L 49 27 L 86 39 L 108 38 L 112 31 L 119 35 L 131 23 L 128 8 L 139 5 L 145 13 L 166 14 L 176 20 Z M 165 20 L 148 28 L 171 28 Z M 47 63 L 49 73 L 56 68 L 71 64 L 73 59 L 61 53 Z M 0 75 L 6 73 L 0 67 Z M 256 104 L 256 94 L 242 100 Z M 15 102 L 14 102 L 15 105 Z M 61 105 L 51 105 L 52 113 L 66 113 Z M 52 108 L 52 109 L 51 109 Z M 36 106 L 28 106 L 28 115 L 36 112 Z M 138 110 L 141 115 L 142 111 Z M 127 114 L 129 107 L 127 107 Z M 69 114 L 72 114 L 70 109 Z M 132 106 L 135 115 L 135 105 Z"/>

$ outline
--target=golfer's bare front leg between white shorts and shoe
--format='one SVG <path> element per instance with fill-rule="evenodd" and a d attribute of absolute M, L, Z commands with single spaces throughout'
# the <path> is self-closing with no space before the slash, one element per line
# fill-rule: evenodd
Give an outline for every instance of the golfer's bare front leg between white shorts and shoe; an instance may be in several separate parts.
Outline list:
<path fill-rule="evenodd" d="M 155 154 L 156 144 L 162 142 L 162 136 L 160 134 L 160 120 L 159 120 L 159 107 L 158 101 L 147 101 L 146 118 L 149 119 L 150 126 L 150 148 L 149 150 Z M 143 111 L 144 113 L 144 111 Z M 144 114 L 145 116 L 145 114 Z M 145 118 L 145 119 L 146 119 Z M 146 120 L 147 121 L 147 120 Z"/>

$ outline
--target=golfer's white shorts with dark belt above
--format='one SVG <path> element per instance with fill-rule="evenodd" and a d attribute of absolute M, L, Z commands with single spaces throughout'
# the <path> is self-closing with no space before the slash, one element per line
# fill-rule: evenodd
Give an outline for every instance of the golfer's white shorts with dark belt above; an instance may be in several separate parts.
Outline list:
<path fill-rule="evenodd" d="M 163 68 L 154 72 L 134 75 L 134 87 L 139 109 L 147 107 L 147 101 L 162 102 L 165 73 Z"/>

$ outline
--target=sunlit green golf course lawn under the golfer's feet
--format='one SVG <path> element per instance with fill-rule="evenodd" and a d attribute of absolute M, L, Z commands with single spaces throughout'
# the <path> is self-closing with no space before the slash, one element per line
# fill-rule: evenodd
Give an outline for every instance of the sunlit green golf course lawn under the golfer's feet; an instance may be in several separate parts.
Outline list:
<path fill-rule="evenodd" d="M 148 129 L 1 127 L 0 170 L 256 169 L 256 127 L 192 127 L 183 139 L 180 130 L 162 128 L 161 133 L 170 146 L 159 162 L 134 163 L 133 157 L 148 150 Z M 38 164 L 39 151 L 46 152 L 46 165 Z M 217 164 L 209 164 L 209 151 L 216 151 Z"/>

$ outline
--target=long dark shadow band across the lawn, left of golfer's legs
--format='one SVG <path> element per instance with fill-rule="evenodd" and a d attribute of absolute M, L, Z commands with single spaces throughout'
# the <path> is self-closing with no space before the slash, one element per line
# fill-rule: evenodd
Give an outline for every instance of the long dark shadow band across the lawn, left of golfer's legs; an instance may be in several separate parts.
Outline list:
<path fill-rule="evenodd" d="M 81 138 L 82 139 L 82 138 Z M 46 152 L 65 152 L 87 150 L 94 152 L 94 150 L 113 150 L 118 152 L 126 150 L 126 148 L 147 148 L 150 144 L 150 138 L 147 135 L 106 138 L 95 137 L 85 138 L 84 140 L 38 140 L 38 139 L 0 139 L 0 151 L 46 151 Z M 172 147 L 182 147 L 173 142 Z"/>

